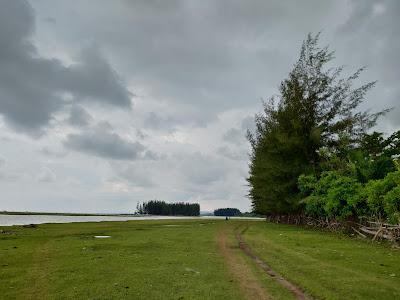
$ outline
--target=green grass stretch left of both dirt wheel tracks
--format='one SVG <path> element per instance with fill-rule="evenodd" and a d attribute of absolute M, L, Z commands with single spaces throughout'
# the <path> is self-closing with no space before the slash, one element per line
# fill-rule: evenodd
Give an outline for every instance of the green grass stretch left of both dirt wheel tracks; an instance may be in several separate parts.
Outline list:
<path fill-rule="evenodd" d="M 1 299 L 242 299 L 215 221 L 4 227 Z M 110 235 L 95 239 L 95 235 Z"/>

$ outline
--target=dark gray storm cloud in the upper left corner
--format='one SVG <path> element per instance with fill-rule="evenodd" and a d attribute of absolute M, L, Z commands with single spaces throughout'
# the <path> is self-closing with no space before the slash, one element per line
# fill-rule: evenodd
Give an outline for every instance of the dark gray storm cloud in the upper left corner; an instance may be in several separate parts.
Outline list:
<path fill-rule="evenodd" d="M 15 129 L 40 135 L 65 105 L 75 101 L 129 108 L 131 93 L 95 48 L 65 66 L 41 57 L 32 42 L 35 14 L 22 0 L 0 3 L 0 113 Z"/>

